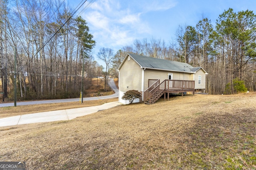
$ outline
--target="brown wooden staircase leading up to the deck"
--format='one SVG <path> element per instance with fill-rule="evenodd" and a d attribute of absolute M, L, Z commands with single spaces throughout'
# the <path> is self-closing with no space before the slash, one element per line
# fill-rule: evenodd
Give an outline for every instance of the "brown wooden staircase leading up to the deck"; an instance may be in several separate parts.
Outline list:
<path fill-rule="evenodd" d="M 157 80 L 147 90 L 145 90 L 144 92 L 145 104 L 154 104 L 164 94 L 164 89 L 160 89 L 160 86 L 162 83 L 160 83 L 160 80 Z"/>

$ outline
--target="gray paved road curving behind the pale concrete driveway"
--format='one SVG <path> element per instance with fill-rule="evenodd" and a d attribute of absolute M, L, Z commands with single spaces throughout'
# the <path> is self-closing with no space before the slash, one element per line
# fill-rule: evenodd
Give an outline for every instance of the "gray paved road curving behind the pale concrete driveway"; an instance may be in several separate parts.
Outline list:
<path fill-rule="evenodd" d="M 115 84 L 113 78 L 109 79 L 108 85 L 110 86 L 110 88 L 112 88 L 112 90 L 114 90 L 114 92 L 115 92 L 114 94 L 112 94 L 110 96 L 98 96 L 98 97 L 91 97 L 91 98 L 83 98 L 83 101 L 118 98 L 119 91 L 118 91 L 118 88 L 116 87 L 116 84 Z M 33 105 L 33 104 L 64 103 L 64 102 L 79 102 L 79 98 L 17 102 L 17 106 Z M 0 104 L 0 107 L 8 107 L 8 106 L 14 106 L 14 103 Z"/>

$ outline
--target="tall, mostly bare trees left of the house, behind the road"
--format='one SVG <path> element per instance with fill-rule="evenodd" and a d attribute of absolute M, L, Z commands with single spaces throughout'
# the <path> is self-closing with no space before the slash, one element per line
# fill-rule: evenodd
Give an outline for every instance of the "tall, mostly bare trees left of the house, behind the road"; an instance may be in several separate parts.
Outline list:
<path fill-rule="evenodd" d="M 3 96 L 72 98 L 102 74 L 92 56 L 96 42 L 76 9 L 64 1 L 0 0 L 0 69 Z M 16 72 L 14 71 L 16 59 Z"/>

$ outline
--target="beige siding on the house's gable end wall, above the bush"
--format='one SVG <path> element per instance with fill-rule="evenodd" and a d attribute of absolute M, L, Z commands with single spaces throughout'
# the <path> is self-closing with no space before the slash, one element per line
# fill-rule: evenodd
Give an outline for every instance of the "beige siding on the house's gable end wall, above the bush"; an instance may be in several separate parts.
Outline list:
<path fill-rule="evenodd" d="M 136 63 L 132 57 L 130 57 L 130 60 L 128 60 L 128 58 L 129 57 L 126 58 L 126 61 L 124 61 L 119 70 L 119 90 L 124 92 L 128 90 L 141 91 L 142 68 L 140 68 L 139 64 Z"/>

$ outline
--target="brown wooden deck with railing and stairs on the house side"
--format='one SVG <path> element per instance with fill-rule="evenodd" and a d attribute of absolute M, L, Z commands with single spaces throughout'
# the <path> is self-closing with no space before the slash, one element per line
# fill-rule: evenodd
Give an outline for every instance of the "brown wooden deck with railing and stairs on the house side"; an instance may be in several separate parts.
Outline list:
<path fill-rule="evenodd" d="M 154 83 L 153 83 L 154 82 Z M 192 80 L 164 80 L 160 83 L 160 80 L 148 80 L 150 85 L 144 92 L 144 102 L 146 104 L 153 104 L 164 94 L 164 100 L 169 100 L 170 93 L 193 92 L 195 90 L 195 81 Z"/>

